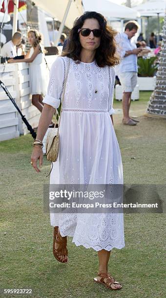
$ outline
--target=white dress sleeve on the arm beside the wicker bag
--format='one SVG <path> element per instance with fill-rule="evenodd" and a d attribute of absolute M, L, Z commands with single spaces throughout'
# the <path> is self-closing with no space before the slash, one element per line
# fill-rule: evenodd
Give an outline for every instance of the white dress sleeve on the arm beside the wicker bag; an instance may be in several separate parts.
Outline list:
<path fill-rule="evenodd" d="M 47 89 L 47 94 L 43 99 L 46 103 L 53 108 L 58 108 L 61 103 L 61 94 L 64 82 L 64 64 L 62 57 L 57 57 L 50 69 L 50 79 Z"/>

